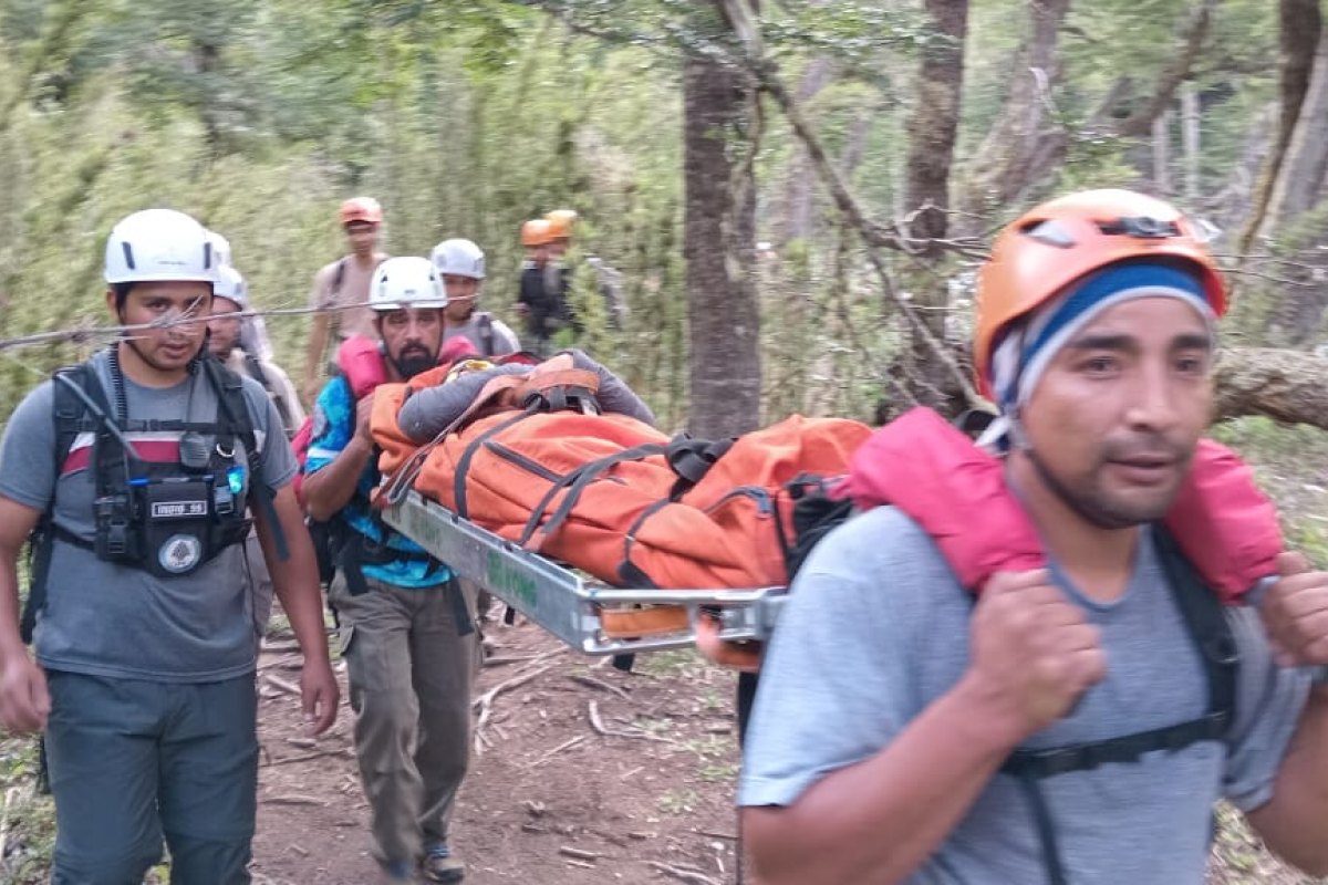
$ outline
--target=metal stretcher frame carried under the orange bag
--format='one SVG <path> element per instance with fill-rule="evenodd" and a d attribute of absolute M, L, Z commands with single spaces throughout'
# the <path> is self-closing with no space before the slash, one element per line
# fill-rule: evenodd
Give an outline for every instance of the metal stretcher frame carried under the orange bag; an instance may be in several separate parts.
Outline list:
<path fill-rule="evenodd" d="M 692 645 L 703 609 L 720 618 L 725 640 L 765 640 L 774 629 L 786 590 L 623 589 L 582 577 L 462 519 L 417 491 L 386 507 L 382 519 L 559 640 L 586 654 L 660 651 Z M 672 606 L 685 620 L 665 634 L 625 636 L 631 614 Z M 629 629 L 627 630 L 629 632 Z"/>

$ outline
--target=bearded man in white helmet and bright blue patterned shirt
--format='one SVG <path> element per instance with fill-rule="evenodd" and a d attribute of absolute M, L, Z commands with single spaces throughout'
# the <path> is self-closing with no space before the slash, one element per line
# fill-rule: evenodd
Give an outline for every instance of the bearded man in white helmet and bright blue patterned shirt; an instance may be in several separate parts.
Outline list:
<path fill-rule="evenodd" d="M 442 350 L 448 296 L 428 259 L 384 261 L 369 287 L 384 374 L 401 382 Z M 344 375 L 319 394 L 304 464 L 309 516 L 333 529 L 328 590 L 356 711 L 355 747 L 373 808 L 374 857 L 385 881 L 463 876 L 448 841 L 470 747 L 473 616 L 453 572 L 388 527 L 371 506 L 380 482 L 371 415 Z"/>

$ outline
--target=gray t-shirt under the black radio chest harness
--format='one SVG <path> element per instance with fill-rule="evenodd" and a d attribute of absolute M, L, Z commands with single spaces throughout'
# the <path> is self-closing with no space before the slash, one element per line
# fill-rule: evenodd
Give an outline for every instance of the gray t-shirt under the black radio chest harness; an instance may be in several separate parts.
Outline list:
<path fill-rule="evenodd" d="M 108 402 L 114 402 L 106 353 L 93 357 Z M 190 402 L 190 387 L 193 402 Z M 127 414 L 138 419 L 211 422 L 216 394 L 203 375 L 170 389 L 125 379 Z M 278 490 L 295 476 L 295 455 L 276 407 L 252 378 L 244 397 L 254 419 L 263 479 Z M 0 438 L 0 495 L 36 510 L 54 496 L 53 517 L 92 541 L 93 474 L 85 466 L 88 435 L 70 455 L 56 455 L 52 382 L 29 393 Z M 178 434 L 130 434 L 131 442 L 169 446 Z M 244 463 L 238 446 L 238 463 Z M 259 507 L 250 491 L 250 507 Z M 161 682 L 212 682 L 254 669 L 255 642 L 244 581 L 244 545 L 234 544 L 190 575 L 162 580 L 146 571 L 106 563 L 90 549 L 56 540 L 46 606 L 37 622 L 39 662 L 50 670 Z"/>

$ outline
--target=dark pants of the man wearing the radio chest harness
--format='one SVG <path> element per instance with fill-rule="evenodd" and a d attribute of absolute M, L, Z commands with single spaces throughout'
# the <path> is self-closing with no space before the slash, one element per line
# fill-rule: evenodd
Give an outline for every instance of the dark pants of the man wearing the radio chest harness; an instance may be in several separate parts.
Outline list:
<path fill-rule="evenodd" d="M 254 675 L 178 685 L 49 671 L 52 885 L 247 885 L 258 791 Z"/>

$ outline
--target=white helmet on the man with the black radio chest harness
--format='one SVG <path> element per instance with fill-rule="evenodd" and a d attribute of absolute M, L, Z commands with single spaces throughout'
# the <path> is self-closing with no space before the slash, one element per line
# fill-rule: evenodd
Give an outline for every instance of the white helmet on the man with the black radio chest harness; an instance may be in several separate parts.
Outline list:
<path fill-rule="evenodd" d="M 216 281 L 212 235 L 183 212 L 149 208 L 126 215 L 106 240 L 106 283 Z"/>

